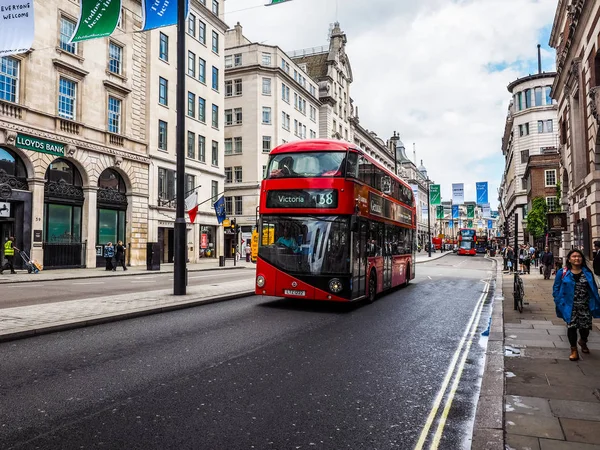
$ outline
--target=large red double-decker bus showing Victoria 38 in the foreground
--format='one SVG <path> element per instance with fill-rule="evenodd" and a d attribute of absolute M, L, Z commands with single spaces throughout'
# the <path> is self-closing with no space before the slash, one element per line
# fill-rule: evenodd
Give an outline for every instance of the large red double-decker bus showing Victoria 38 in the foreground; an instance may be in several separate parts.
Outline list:
<path fill-rule="evenodd" d="M 415 276 L 413 192 L 352 144 L 275 148 L 259 213 L 257 294 L 373 301 Z"/>

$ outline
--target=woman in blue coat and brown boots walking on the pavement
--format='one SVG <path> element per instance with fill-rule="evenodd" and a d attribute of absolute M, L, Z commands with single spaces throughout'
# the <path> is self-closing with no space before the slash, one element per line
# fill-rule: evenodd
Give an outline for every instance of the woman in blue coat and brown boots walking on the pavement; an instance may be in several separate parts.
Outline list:
<path fill-rule="evenodd" d="M 571 344 L 569 359 L 577 361 L 577 344 L 583 353 L 590 352 L 587 339 L 592 329 L 592 317 L 600 317 L 598 287 L 580 250 L 571 250 L 567 255 L 567 267 L 557 272 L 552 295 L 556 304 L 556 315 L 567 323 L 567 336 Z M 579 341 L 577 330 L 581 337 Z"/>

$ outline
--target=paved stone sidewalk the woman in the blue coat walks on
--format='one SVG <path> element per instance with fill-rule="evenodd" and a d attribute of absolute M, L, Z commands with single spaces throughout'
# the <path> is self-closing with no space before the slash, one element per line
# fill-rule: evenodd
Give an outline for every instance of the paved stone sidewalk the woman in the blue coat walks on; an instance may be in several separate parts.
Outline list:
<path fill-rule="evenodd" d="M 497 259 L 502 264 L 500 258 Z M 600 320 L 588 347 L 569 361 L 566 326 L 558 319 L 551 280 L 522 275 L 523 313 L 513 308 L 513 275 L 503 274 L 507 449 L 600 450 Z"/>

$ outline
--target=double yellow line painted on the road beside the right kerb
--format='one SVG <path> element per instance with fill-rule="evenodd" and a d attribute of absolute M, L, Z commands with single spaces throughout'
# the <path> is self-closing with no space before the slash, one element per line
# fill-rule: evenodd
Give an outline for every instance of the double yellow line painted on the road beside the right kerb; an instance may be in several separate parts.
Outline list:
<path fill-rule="evenodd" d="M 438 426 L 431 438 L 431 445 L 429 446 L 429 449 L 436 450 L 440 444 L 440 440 L 442 439 L 442 435 L 444 433 L 444 427 L 446 426 L 446 420 L 448 419 L 448 413 L 450 412 L 450 408 L 452 407 L 454 395 L 456 394 L 456 390 L 458 389 L 458 385 L 462 377 L 462 372 L 465 368 L 467 356 L 469 355 L 471 344 L 473 343 L 473 337 L 475 335 L 475 332 L 477 331 L 479 320 L 481 319 L 481 312 L 483 311 L 485 298 L 487 297 L 487 294 L 489 292 L 490 280 L 483 282 L 485 283 L 483 292 L 479 297 L 479 300 L 477 300 L 475 309 L 473 310 L 473 314 L 471 314 L 471 318 L 469 319 L 469 323 L 466 326 L 463 337 L 460 340 L 460 343 L 458 344 L 456 352 L 454 352 L 454 356 L 452 357 L 452 361 L 450 362 L 450 366 L 448 367 L 448 371 L 446 372 L 446 376 L 444 377 L 442 386 L 435 398 L 435 401 L 433 402 L 433 406 L 431 408 L 429 416 L 427 417 L 425 426 L 421 431 L 421 435 L 419 436 L 419 440 L 417 441 L 415 450 L 423 449 L 425 442 L 427 441 L 427 437 L 429 436 L 429 430 L 431 429 L 433 421 L 438 415 L 438 410 L 442 405 L 442 401 L 444 400 L 446 391 L 448 390 L 448 386 L 450 385 L 450 381 L 452 380 L 452 377 L 454 377 L 454 381 L 452 382 L 452 386 L 450 386 L 450 391 L 448 392 L 448 396 L 444 404 L 444 409 L 442 410 L 442 413 L 439 418 Z"/>

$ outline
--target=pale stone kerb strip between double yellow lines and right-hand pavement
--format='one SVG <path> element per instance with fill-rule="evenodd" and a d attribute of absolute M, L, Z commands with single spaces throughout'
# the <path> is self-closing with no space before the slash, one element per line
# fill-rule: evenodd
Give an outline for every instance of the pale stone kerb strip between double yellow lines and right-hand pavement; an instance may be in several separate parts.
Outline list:
<path fill-rule="evenodd" d="M 504 450 L 504 297 L 502 266 L 496 258 L 494 300 L 485 368 L 473 424 L 473 450 Z"/>

